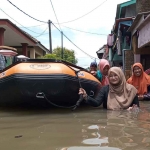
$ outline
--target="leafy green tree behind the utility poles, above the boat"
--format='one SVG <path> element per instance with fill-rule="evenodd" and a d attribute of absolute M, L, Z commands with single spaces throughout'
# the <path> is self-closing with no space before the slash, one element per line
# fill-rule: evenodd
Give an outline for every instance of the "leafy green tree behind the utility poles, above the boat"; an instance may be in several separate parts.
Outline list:
<path fill-rule="evenodd" d="M 75 58 L 75 53 L 73 50 L 66 49 L 64 47 L 63 59 L 61 58 L 62 50 L 61 47 L 57 47 L 53 50 L 52 54 L 46 54 L 43 59 L 60 59 L 65 60 L 73 64 L 77 64 L 77 59 Z"/>

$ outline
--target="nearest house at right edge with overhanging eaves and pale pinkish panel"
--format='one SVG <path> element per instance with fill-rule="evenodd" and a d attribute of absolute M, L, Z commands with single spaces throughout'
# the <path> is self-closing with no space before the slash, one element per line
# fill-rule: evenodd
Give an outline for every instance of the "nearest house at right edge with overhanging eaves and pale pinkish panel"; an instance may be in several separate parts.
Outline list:
<path fill-rule="evenodd" d="M 144 70 L 150 68 L 150 12 L 139 13 L 128 29 L 132 36 L 134 63 L 141 62 Z"/>

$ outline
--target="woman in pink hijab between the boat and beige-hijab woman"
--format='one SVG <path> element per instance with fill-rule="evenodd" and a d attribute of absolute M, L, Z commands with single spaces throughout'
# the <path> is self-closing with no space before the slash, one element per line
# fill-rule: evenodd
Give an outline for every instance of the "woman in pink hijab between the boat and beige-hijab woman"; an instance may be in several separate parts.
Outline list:
<path fill-rule="evenodd" d="M 106 59 L 101 59 L 99 62 L 99 70 L 97 76 L 102 83 L 102 86 L 108 85 L 108 70 L 110 68 L 109 62 Z"/>

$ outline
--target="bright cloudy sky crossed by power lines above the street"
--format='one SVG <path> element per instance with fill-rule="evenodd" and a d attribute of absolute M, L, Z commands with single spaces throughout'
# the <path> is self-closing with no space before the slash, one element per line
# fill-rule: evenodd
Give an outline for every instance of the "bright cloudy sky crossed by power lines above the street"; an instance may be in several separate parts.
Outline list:
<path fill-rule="evenodd" d="M 74 50 L 78 66 L 87 68 L 97 58 L 96 51 L 107 43 L 115 22 L 117 4 L 128 0 L 1 0 L 0 18 L 9 19 L 49 49 L 48 20 L 77 46 L 63 37 L 63 46 Z M 60 31 L 52 24 L 52 49 L 61 47 Z M 71 29 L 70 29 L 71 28 Z M 74 30 L 73 30 L 74 29 Z M 77 31 L 77 30 L 80 30 Z M 83 32 L 81 32 L 83 31 Z M 90 32 L 90 33 L 85 33 Z M 83 53 L 82 51 L 85 53 Z"/>

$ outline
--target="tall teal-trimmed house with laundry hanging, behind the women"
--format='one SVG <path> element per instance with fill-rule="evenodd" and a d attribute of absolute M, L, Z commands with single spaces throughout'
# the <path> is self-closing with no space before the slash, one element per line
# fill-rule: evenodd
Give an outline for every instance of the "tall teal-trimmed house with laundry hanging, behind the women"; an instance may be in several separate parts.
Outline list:
<path fill-rule="evenodd" d="M 128 78 L 131 75 L 131 65 L 134 62 L 131 50 L 131 32 L 128 29 L 136 16 L 136 0 L 130 0 L 117 5 L 115 23 L 107 36 L 108 60 L 111 66 L 123 64 L 123 71 Z M 105 56 L 105 51 L 103 56 Z"/>

